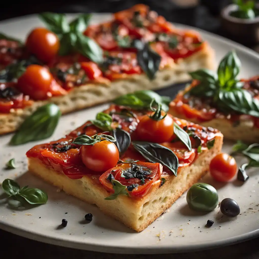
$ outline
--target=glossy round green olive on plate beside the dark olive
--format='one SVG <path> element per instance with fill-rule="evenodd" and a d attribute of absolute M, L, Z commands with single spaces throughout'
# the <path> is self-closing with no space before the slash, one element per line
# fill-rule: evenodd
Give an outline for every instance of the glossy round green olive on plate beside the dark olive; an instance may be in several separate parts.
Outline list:
<path fill-rule="evenodd" d="M 195 211 L 213 211 L 219 203 L 217 190 L 207 183 L 196 183 L 187 192 L 189 208 Z"/>

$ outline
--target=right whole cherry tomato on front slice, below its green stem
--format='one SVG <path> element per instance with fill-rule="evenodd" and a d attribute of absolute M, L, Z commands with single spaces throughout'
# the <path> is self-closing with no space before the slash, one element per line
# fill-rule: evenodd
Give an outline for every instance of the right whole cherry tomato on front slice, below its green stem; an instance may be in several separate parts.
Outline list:
<path fill-rule="evenodd" d="M 144 116 L 137 128 L 138 140 L 161 143 L 168 141 L 174 134 L 174 120 L 167 116 L 162 120 L 153 120 L 148 115 Z"/>

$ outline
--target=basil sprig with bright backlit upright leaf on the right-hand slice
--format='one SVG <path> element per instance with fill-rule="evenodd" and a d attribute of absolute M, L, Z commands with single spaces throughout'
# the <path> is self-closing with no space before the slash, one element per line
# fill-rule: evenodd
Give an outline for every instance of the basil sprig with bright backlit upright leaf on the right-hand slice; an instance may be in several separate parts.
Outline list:
<path fill-rule="evenodd" d="M 218 73 L 207 69 L 191 72 L 193 79 L 200 83 L 188 92 L 200 98 L 211 97 L 212 104 L 221 112 L 238 112 L 259 117 L 259 100 L 245 89 L 236 77 L 241 62 L 234 51 L 229 52 L 220 62 Z"/>

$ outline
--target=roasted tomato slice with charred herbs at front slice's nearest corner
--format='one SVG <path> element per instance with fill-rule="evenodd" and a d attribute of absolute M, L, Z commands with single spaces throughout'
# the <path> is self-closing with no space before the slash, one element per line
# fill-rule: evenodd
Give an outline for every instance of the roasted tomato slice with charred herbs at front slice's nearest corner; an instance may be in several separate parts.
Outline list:
<path fill-rule="evenodd" d="M 129 170 L 139 170 L 143 169 L 148 171 L 148 175 L 145 178 L 145 183 L 142 183 L 138 178 L 129 178 L 126 179 L 123 175 L 125 171 Z M 104 186 L 107 191 L 114 192 L 113 184 L 107 177 L 112 174 L 114 179 L 119 181 L 121 184 L 125 186 L 131 186 L 132 184 L 137 185 L 132 191 L 128 191 L 131 197 L 142 197 L 148 193 L 152 184 L 157 181 L 163 171 L 163 167 L 159 163 L 148 163 L 148 162 L 136 162 L 136 163 L 122 163 L 117 167 L 111 168 L 107 170 L 104 174 L 102 174 L 99 178 L 100 183 Z"/>

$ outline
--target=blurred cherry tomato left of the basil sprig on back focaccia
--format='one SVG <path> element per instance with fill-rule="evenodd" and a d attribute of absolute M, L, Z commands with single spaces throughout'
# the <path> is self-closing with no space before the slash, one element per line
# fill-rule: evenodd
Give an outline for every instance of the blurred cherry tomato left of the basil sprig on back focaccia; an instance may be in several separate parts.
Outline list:
<path fill-rule="evenodd" d="M 50 62 L 59 51 L 57 35 L 46 28 L 35 28 L 27 37 L 26 48 L 43 62 Z"/>

